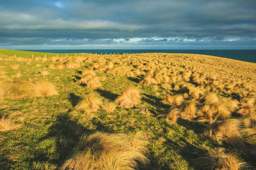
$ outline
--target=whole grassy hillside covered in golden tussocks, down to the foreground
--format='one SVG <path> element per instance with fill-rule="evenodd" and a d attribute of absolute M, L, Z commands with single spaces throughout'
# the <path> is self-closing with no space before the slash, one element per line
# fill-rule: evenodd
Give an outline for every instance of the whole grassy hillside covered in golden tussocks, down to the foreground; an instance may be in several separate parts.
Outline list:
<path fill-rule="evenodd" d="M 256 64 L 192 54 L 0 53 L 2 169 L 81 169 L 79 160 L 84 169 L 256 167 Z"/>

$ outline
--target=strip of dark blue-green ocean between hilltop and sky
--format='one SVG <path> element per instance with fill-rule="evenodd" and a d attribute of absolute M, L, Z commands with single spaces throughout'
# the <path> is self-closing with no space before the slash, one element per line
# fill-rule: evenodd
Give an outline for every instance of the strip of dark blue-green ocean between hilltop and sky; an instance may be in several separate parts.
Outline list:
<path fill-rule="evenodd" d="M 256 62 L 256 50 L 27 50 L 49 53 L 198 53 L 229 59 Z"/>

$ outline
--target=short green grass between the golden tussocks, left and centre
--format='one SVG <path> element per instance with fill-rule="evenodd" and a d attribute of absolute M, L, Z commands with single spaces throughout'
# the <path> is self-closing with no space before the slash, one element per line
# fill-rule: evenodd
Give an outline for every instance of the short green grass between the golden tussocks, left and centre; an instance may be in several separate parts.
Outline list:
<path fill-rule="evenodd" d="M 17 51 L 0 50 L 0 53 L 6 55 L 13 55 L 15 52 Z M 30 57 L 31 53 L 33 52 L 19 51 L 17 56 Z M 47 53 L 47 56 L 51 55 L 53 54 Z M 42 57 L 44 53 L 36 53 L 34 56 Z M 163 95 L 154 95 L 152 85 L 140 85 L 140 78 L 97 73 L 98 76 L 106 76 L 106 80 L 102 82 L 100 89 L 93 92 L 102 100 L 114 101 L 125 88 L 136 86 L 141 90 L 142 96 L 142 103 L 138 108 L 126 110 L 118 107 L 113 113 L 99 110 L 89 115 L 84 111 L 74 110 L 79 99 L 90 93 L 86 87 L 72 80 L 72 76 L 80 75 L 77 70 L 85 69 L 85 66 L 63 70 L 47 68 L 51 63 L 34 61 L 27 65 L 26 62 L 0 61 L 0 66 L 8 76 L 21 73 L 24 79 L 51 81 L 59 91 L 58 96 L 0 100 L 0 116 L 10 115 L 15 111 L 26 115 L 24 122 L 20 122 L 21 128 L 0 132 L 0 169 L 60 167 L 79 138 L 84 133 L 95 131 L 145 132 L 150 141 L 147 147 L 150 164 L 141 169 L 200 169 L 195 164 L 195 158 L 204 156 L 218 146 L 203 135 L 207 127 L 205 124 L 181 118 L 177 124 L 168 124 L 165 116 L 157 117 L 166 115 L 170 106 L 161 103 Z M 19 64 L 19 69 L 8 67 L 13 64 Z M 35 76 L 44 68 L 47 68 L 49 75 Z M 60 81 L 54 81 L 57 76 Z M 163 88 L 158 90 L 163 91 Z M 141 113 L 143 108 L 148 108 L 152 115 Z"/>

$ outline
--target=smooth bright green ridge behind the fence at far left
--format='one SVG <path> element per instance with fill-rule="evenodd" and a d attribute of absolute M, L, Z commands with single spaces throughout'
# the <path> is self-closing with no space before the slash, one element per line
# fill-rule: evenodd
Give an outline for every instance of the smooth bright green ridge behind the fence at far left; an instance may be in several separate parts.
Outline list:
<path fill-rule="evenodd" d="M 33 57 L 53 57 L 57 56 L 57 53 L 42 53 L 42 52 L 27 52 L 22 50 L 6 50 L 6 49 L 0 49 L 0 57 L 9 57 L 9 56 L 15 56 L 16 57 L 23 57 L 23 58 L 29 58 L 33 55 Z M 78 55 L 79 53 L 77 53 Z M 75 56 L 76 53 L 68 53 L 68 56 Z M 81 55 L 81 54 L 80 54 Z M 66 53 L 59 53 L 59 57 L 66 57 Z"/>

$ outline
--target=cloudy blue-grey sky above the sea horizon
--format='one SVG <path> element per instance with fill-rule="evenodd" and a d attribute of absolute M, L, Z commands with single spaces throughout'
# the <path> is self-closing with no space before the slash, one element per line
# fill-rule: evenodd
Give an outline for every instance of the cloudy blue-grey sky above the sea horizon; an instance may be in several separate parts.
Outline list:
<path fill-rule="evenodd" d="M 256 49 L 256 1 L 0 0 L 0 48 Z"/>

